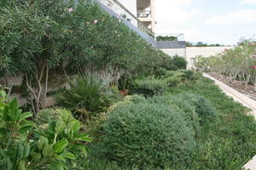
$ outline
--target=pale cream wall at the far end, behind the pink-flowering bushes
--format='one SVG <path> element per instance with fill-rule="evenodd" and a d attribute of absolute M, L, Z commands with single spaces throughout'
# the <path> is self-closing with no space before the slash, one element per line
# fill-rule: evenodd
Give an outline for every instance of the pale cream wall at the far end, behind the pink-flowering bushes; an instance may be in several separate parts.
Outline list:
<path fill-rule="evenodd" d="M 225 49 L 230 49 L 234 47 L 188 47 L 187 51 L 187 61 L 188 61 L 188 69 L 191 69 L 193 65 L 193 59 L 197 55 L 202 55 L 204 57 L 210 57 L 212 55 L 220 54 L 224 52 Z"/>

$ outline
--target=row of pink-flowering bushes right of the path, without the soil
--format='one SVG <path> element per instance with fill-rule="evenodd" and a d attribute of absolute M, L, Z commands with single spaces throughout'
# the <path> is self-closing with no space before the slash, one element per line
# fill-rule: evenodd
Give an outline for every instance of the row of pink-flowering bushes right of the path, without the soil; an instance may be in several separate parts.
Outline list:
<path fill-rule="evenodd" d="M 209 57 L 197 57 L 195 66 L 203 71 L 217 72 L 230 81 L 239 79 L 247 86 L 252 83 L 256 90 L 256 42 L 245 40 L 236 48 L 224 50 L 223 53 Z"/>

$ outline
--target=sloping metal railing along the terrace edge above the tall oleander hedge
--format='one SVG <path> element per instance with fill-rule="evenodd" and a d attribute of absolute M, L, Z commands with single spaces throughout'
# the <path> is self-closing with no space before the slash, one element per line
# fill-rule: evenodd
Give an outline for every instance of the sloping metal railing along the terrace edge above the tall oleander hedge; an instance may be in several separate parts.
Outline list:
<path fill-rule="evenodd" d="M 103 5 L 107 6 L 111 10 L 113 10 L 115 13 L 119 14 L 120 16 L 125 16 L 125 19 L 130 21 L 133 26 L 136 26 L 141 31 L 148 34 L 150 37 L 154 37 L 154 32 L 151 31 L 148 26 L 145 26 L 143 22 L 137 19 L 137 17 L 131 13 L 130 10 L 125 8 L 124 5 L 119 3 L 118 0 L 98 0 Z"/>

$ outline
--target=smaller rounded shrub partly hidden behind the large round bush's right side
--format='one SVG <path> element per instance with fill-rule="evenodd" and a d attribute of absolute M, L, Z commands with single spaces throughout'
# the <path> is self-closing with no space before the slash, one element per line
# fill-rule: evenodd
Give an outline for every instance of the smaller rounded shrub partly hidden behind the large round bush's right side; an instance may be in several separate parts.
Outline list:
<path fill-rule="evenodd" d="M 198 114 L 201 123 L 209 122 L 218 115 L 218 111 L 212 106 L 210 100 L 201 95 L 182 93 L 174 96 L 173 100 L 181 105 L 181 108 L 183 109 L 186 108 L 184 107 L 185 105 L 195 107 L 195 112 Z"/>

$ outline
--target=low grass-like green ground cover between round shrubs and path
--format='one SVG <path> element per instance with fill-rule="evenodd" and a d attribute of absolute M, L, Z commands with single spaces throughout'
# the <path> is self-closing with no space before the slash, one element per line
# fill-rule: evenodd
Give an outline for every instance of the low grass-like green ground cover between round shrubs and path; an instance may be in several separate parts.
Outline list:
<path fill-rule="evenodd" d="M 201 133 L 196 138 L 195 150 L 189 162 L 175 161 L 165 169 L 241 169 L 256 154 L 256 124 L 253 116 L 247 116 L 247 108 L 227 97 L 207 78 L 183 82 L 169 88 L 166 95 L 175 96 L 184 92 L 209 99 L 218 111 L 218 120 L 201 125 Z M 86 169 L 137 169 L 132 165 L 124 167 L 118 161 L 102 159 L 100 154 L 95 154 L 93 146 L 90 151 L 94 154 L 90 154 L 85 161 Z"/>

